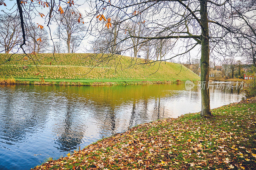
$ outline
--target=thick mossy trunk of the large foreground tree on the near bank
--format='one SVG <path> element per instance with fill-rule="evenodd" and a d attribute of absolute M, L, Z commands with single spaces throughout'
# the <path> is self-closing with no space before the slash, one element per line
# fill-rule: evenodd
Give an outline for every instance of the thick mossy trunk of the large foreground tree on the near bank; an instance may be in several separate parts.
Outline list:
<path fill-rule="evenodd" d="M 212 115 L 210 110 L 209 94 L 209 26 L 207 16 L 207 2 L 200 0 L 200 15 L 202 23 L 202 46 L 201 46 L 201 116 Z"/>

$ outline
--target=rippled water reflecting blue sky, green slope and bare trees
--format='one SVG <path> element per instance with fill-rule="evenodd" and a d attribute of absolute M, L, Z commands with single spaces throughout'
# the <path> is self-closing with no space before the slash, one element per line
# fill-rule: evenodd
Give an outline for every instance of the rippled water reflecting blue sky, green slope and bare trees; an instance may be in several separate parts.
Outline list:
<path fill-rule="evenodd" d="M 211 108 L 243 96 L 242 90 L 211 88 Z M 0 85 L 0 169 L 30 169 L 102 135 L 200 110 L 200 90 L 185 90 L 185 84 Z"/>

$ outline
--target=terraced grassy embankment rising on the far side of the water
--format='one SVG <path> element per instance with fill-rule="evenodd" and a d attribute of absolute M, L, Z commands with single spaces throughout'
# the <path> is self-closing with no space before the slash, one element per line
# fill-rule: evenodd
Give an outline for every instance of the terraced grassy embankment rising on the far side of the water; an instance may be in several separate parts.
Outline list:
<path fill-rule="evenodd" d="M 130 57 L 118 56 L 118 59 L 97 65 L 89 54 L 55 54 L 54 57 L 56 61 L 53 54 L 37 54 L 33 61 L 24 60 L 22 59 L 24 57 L 18 54 L 12 56 L 0 54 L 0 63 L 10 58 L 10 61 L 0 65 L 0 78 L 4 80 L 14 78 L 17 84 L 66 85 L 145 84 L 200 80 L 199 76 L 187 67 L 170 62 L 141 65 L 145 62 L 144 59 L 132 60 Z M 42 78 L 44 82 L 41 81 Z"/>

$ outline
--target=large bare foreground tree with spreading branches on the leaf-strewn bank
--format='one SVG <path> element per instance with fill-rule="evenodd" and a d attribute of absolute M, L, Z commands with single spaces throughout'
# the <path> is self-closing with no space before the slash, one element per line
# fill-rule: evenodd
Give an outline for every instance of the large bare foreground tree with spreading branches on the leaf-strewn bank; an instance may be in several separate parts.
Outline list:
<path fill-rule="evenodd" d="M 128 36 L 124 41 L 132 41 L 131 46 L 125 50 L 134 51 L 134 57 L 140 49 L 140 44 L 146 41 L 176 39 L 178 50 L 172 50 L 169 58 L 162 58 L 161 61 L 173 57 L 187 56 L 190 58 L 191 51 L 200 48 L 201 68 L 201 115 L 211 115 L 209 82 L 209 58 L 211 55 L 221 54 L 225 56 L 228 50 L 232 49 L 232 34 L 242 34 L 234 31 L 234 20 L 237 15 L 232 11 L 238 5 L 243 4 L 239 0 L 173 0 L 173 1 L 115 1 L 105 3 L 103 1 L 90 1 L 91 11 L 90 30 L 102 31 L 108 21 L 94 20 L 98 14 L 106 17 L 106 20 L 114 14 L 119 13 L 120 23 L 129 23 L 133 29 L 127 27 Z M 245 14 L 250 9 L 244 8 L 240 13 Z M 228 17 L 227 17 L 228 16 Z M 253 18 L 255 16 L 252 16 Z M 105 22 L 105 23 L 102 23 Z M 243 21 L 245 22 L 245 21 Z M 95 24 L 94 24 L 95 23 Z M 103 24 L 103 27 L 102 27 Z M 140 27 L 143 27 L 141 31 Z M 134 31 L 133 31 L 134 30 Z M 147 30 L 147 31 L 145 31 Z M 145 34 L 146 33 L 146 34 Z M 150 33 L 150 34 L 147 34 Z M 162 35 L 165 33 L 164 35 Z M 93 35 L 94 32 L 91 32 Z M 211 47 L 211 48 L 210 48 Z M 104 56 L 102 56 L 104 58 Z M 155 61 L 149 61 L 155 62 Z M 141 63 L 142 64 L 142 63 Z M 145 64 L 145 63 L 144 63 Z"/>

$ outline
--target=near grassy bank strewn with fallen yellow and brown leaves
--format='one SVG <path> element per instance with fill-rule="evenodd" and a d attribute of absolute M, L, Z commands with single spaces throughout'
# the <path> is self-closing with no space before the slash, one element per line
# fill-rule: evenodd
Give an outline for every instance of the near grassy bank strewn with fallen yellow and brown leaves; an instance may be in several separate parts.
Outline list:
<path fill-rule="evenodd" d="M 134 127 L 34 169 L 255 169 L 255 98 Z"/>

